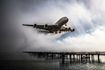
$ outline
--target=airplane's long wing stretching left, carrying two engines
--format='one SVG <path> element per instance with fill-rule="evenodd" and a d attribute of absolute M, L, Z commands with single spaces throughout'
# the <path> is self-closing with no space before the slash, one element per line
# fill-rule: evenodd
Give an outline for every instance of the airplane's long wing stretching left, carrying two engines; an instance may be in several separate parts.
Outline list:
<path fill-rule="evenodd" d="M 45 30 L 52 30 L 53 28 L 57 27 L 57 25 L 31 25 L 31 24 L 23 24 L 23 26 L 29 26 L 29 27 L 33 27 L 33 28 L 38 28 L 38 29 L 45 29 Z"/>

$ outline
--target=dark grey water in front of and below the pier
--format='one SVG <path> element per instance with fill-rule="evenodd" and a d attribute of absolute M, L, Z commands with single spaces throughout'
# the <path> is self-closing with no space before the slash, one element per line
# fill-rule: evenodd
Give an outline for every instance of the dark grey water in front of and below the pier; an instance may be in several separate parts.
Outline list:
<path fill-rule="evenodd" d="M 65 64 L 61 60 L 44 60 L 29 56 L 26 53 L 0 54 L 0 70 L 105 70 L 105 56 L 102 63 L 72 63 Z M 95 57 L 97 60 L 97 56 Z"/>

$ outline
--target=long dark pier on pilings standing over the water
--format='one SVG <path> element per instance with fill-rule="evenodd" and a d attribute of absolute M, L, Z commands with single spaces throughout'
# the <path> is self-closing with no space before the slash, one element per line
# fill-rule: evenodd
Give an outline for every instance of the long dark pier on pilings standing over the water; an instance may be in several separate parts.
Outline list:
<path fill-rule="evenodd" d="M 73 62 L 88 62 L 94 63 L 94 56 L 97 56 L 97 62 L 100 63 L 100 56 L 105 56 L 105 52 L 29 52 L 24 51 L 23 53 L 29 53 L 31 56 L 45 59 L 62 59 L 62 63 L 65 63 L 65 59 L 69 59 L 70 63 Z"/>

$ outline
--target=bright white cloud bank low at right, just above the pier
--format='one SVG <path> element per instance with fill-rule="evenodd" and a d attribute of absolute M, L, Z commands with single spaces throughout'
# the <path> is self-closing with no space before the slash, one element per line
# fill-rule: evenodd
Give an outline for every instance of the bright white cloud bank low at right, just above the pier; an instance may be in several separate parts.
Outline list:
<path fill-rule="evenodd" d="M 100 26 L 90 34 L 78 37 L 68 37 L 62 43 L 67 43 L 68 48 L 76 48 L 74 51 L 104 51 L 105 49 L 105 27 Z M 65 48 L 66 48 L 65 45 Z"/>

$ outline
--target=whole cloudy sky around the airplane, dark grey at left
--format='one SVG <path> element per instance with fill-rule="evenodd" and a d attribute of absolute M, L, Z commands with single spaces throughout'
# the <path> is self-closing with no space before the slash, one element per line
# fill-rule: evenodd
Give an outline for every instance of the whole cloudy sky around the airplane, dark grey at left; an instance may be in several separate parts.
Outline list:
<path fill-rule="evenodd" d="M 0 0 L 0 53 L 105 51 L 105 0 Z M 74 32 L 39 33 L 22 24 L 55 24 L 68 17 Z"/>

